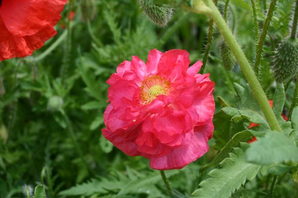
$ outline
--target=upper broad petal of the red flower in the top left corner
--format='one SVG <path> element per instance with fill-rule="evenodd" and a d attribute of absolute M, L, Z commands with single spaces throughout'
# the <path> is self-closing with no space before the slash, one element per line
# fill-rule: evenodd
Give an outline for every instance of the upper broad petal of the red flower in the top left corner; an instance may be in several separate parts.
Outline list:
<path fill-rule="evenodd" d="M 34 35 L 61 18 L 67 0 L 2 0 L 1 16 L 14 36 Z"/>

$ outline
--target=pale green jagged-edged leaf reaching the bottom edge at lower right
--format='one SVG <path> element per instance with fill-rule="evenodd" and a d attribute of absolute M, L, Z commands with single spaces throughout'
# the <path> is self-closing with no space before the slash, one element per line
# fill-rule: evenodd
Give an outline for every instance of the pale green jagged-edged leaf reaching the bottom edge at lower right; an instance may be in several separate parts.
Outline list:
<path fill-rule="evenodd" d="M 261 166 L 245 161 L 241 148 L 234 148 L 229 156 L 220 164 L 222 168 L 208 173 L 210 178 L 200 183 L 201 188 L 192 194 L 194 198 L 229 198 L 246 180 L 255 178 Z"/>

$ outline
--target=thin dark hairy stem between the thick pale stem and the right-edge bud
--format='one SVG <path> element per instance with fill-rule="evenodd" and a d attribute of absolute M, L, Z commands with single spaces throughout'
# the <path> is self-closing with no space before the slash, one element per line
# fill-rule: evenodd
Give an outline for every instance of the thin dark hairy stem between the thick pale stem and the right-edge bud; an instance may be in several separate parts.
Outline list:
<path fill-rule="evenodd" d="M 263 32 L 261 34 L 261 37 L 260 37 L 260 40 L 259 40 L 259 43 L 258 43 L 255 66 L 254 66 L 254 70 L 255 70 L 255 73 L 256 73 L 257 76 L 259 74 L 259 65 L 260 65 L 263 45 L 264 45 L 265 40 L 266 40 L 266 35 L 267 35 L 267 32 L 268 32 L 268 28 L 270 26 L 271 18 L 273 16 L 273 10 L 274 10 L 275 4 L 276 4 L 276 0 L 272 0 L 271 3 L 270 3 L 267 18 L 266 18 L 266 21 L 265 21 L 265 24 L 264 24 Z"/>

